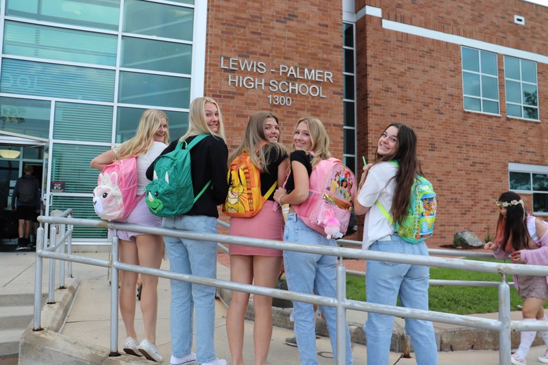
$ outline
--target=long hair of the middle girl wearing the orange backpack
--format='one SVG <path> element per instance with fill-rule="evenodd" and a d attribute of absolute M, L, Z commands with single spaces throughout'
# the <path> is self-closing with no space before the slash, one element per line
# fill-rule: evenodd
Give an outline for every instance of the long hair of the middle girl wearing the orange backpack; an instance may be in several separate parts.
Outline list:
<path fill-rule="evenodd" d="M 277 151 L 278 155 L 283 155 L 286 153 L 286 147 L 283 144 L 278 142 L 271 142 L 266 139 L 264 134 L 264 123 L 266 119 L 274 118 L 276 123 L 278 123 L 278 118 L 271 112 L 256 112 L 249 118 L 247 122 L 247 127 L 245 129 L 244 139 L 242 143 L 238 146 L 237 149 L 232 151 L 228 157 L 228 164 L 234 159 L 238 158 L 242 154 L 242 151 L 245 151 L 249 154 L 251 163 L 255 165 L 262 173 L 269 172 L 266 170 L 268 162 L 266 162 L 265 150 L 261 147 L 264 144 L 271 144 Z M 270 150 L 269 150 L 270 151 Z M 256 153 L 254 153 L 256 152 Z"/>

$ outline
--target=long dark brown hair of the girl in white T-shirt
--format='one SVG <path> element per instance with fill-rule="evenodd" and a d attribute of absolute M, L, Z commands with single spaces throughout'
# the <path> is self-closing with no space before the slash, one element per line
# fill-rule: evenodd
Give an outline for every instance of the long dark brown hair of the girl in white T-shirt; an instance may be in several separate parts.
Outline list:
<path fill-rule="evenodd" d="M 421 171 L 419 159 L 416 158 L 416 134 L 414 130 L 403 123 L 391 123 L 384 129 L 383 134 L 386 132 L 386 129 L 390 127 L 396 127 L 398 129 L 396 153 L 393 155 L 379 155 L 377 145 L 374 164 L 390 160 L 397 160 L 399 162 L 399 168 L 394 177 L 396 179 L 396 190 L 392 201 L 392 208 L 390 209 L 390 215 L 393 216 L 394 221 L 401 223 L 408 210 L 411 198 L 411 188 L 416 179 L 416 175 L 423 175 L 423 172 Z"/>

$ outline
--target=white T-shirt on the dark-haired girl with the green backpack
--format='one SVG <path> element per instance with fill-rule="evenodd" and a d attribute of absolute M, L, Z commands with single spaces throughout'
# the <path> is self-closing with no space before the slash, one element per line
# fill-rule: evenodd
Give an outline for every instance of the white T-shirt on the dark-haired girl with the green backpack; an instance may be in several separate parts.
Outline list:
<path fill-rule="evenodd" d="M 379 162 L 369 169 L 364 186 L 358 195 L 358 201 L 364 207 L 371 207 L 365 214 L 364 239 L 362 249 L 369 249 L 375 241 L 394 234 L 394 228 L 388 223 L 379 207 L 377 199 L 387 212 L 392 208 L 392 199 L 396 189 L 397 166 L 390 162 Z"/>

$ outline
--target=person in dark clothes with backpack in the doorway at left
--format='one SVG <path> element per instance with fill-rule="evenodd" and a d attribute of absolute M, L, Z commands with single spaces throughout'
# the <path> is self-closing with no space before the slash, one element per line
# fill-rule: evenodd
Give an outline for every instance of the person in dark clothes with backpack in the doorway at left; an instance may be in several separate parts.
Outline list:
<path fill-rule="evenodd" d="M 40 186 L 38 179 L 32 176 L 32 165 L 23 168 L 25 175 L 19 177 L 12 194 L 12 211 L 18 220 L 17 251 L 32 249 L 29 236 L 36 214 L 40 212 Z"/>

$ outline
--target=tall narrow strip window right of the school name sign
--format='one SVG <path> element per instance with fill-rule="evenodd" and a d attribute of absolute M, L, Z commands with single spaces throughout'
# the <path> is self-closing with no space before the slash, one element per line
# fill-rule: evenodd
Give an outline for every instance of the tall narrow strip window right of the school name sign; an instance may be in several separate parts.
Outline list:
<path fill-rule="evenodd" d="M 344 151 L 345 164 L 356 173 L 356 62 L 354 25 L 343 23 L 344 52 Z"/>

